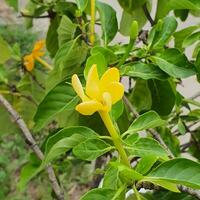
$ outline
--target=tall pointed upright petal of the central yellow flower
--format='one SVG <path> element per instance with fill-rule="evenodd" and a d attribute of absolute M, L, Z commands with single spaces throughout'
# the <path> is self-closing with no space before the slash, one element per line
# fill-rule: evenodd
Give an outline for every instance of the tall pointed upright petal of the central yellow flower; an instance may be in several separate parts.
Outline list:
<path fill-rule="evenodd" d="M 101 99 L 100 87 L 99 87 L 99 75 L 97 66 L 92 65 L 86 82 L 86 94 L 92 99 Z"/>

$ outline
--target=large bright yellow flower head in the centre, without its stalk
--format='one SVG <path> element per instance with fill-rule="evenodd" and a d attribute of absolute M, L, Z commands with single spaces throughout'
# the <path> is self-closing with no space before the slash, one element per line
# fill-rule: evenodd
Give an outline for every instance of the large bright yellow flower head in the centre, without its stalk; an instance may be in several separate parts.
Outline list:
<path fill-rule="evenodd" d="M 119 70 L 108 69 L 99 79 L 97 66 L 93 65 L 88 73 L 85 93 L 76 74 L 72 76 L 72 86 L 82 103 L 76 110 L 83 115 L 92 115 L 96 111 L 109 112 L 112 104 L 119 101 L 124 94 L 124 86 L 119 82 Z"/>

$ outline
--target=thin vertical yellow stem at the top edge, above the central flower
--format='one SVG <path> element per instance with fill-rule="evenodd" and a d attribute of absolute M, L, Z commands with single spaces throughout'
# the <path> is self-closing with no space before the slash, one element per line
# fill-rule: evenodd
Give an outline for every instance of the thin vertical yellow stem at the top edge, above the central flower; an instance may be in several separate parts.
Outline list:
<path fill-rule="evenodd" d="M 91 0 L 90 43 L 92 46 L 95 41 L 95 4 L 96 0 Z"/>

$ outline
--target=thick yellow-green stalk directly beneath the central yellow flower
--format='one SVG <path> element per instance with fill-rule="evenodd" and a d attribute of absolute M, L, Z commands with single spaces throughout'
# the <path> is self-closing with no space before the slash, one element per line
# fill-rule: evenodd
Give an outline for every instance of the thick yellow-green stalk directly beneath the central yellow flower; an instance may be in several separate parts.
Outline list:
<path fill-rule="evenodd" d="M 103 120 L 106 128 L 108 129 L 108 132 L 110 133 L 110 136 L 113 140 L 113 143 L 114 143 L 116 149 L 119 152 L 119 155 L 121 157 L 123 164 L 130 167 L 130 162 L 128 160 L 128 156 L 123 148 L 121 138 L 113 125 L 110 115 L 108 114 L 108 112 L 103 112 L 103 111 L 99 112 L 99 114 L 100 114 L 101 119 Z"/>

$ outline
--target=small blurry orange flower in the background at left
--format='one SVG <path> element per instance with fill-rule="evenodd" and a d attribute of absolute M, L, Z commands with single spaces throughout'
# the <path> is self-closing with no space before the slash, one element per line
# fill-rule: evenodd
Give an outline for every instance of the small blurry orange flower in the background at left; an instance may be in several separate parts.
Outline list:
<path fill-rule="evenodd" d="M 35 43 L 31 54 L 24 56 L 24 66 L 28 71 L 32 71 L 35 65 L 35 60 L 40 62 L 40 57 L 44 55 L 44 51 L 41 51 L 44 48 L 45 41 L 40 40 Z"/>

